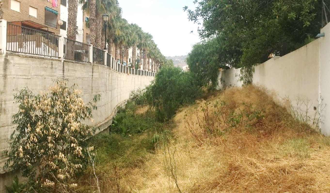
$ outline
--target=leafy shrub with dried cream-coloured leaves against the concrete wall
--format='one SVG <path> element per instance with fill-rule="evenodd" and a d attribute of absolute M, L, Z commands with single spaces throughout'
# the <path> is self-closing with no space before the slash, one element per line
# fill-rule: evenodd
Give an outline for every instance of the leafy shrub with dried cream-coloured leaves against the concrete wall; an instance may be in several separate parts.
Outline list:
<path fill-rule="evenodd" d="M 93 121 L 91 109 L 100 99 L 95 95 L 85 105 L 80 93 L 74 85 L 56 81 L 48 92 L 35 95 L 23 88 L 14 96 L 19 111 L 5 167 L 28 178 L 27 192 L 67 192 L 77 186 L 72 178 L 86 167 L 93 147 L 85 140 L 95 133 L 81 121 Z"/>

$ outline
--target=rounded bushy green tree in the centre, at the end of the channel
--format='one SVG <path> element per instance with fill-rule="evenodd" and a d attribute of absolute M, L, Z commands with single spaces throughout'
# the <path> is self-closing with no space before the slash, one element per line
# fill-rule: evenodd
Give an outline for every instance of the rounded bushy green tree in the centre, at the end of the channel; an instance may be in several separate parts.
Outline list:
<path fill-rule="evenodd" d="M 147 88 L 147 100 L 155 108 L 157 119 L 166 121 L 173 117 L 181 105 L 193 103 L 200 93 L 201 89 L 192 73 L 168 65 L 159 70 Z"/>

